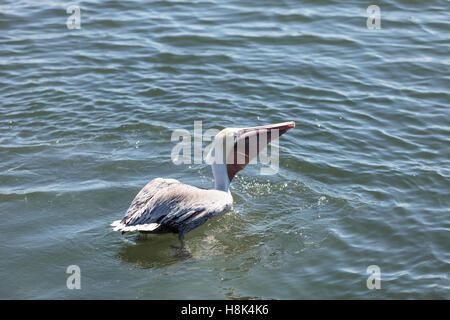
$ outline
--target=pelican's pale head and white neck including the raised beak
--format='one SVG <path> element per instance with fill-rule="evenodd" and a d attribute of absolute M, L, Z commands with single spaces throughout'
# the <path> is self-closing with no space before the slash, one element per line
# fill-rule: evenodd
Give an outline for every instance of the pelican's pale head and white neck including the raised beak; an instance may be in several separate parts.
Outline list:
<path fill-rule="evenodd" d="M 216 189 L 228 189 L 236 173 L 244 169 L 270 141 L 295 127 L 283 122 L 248 128 L 226 128 L 214 138 L 206 162 L 213 167 Z"/>

